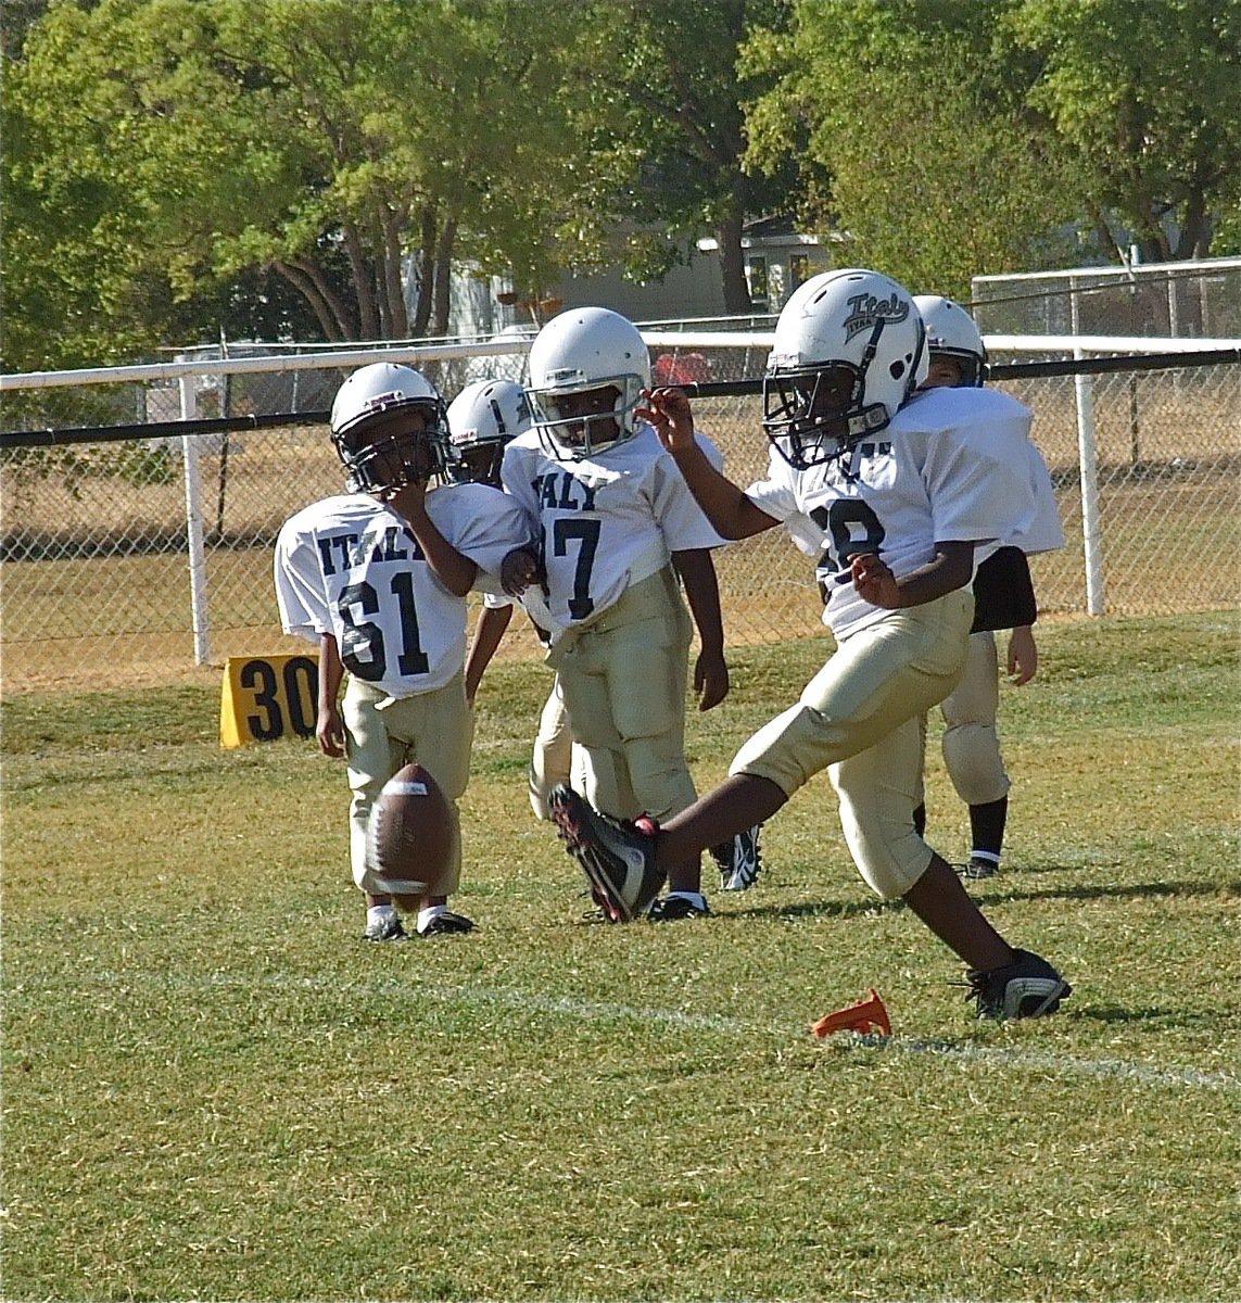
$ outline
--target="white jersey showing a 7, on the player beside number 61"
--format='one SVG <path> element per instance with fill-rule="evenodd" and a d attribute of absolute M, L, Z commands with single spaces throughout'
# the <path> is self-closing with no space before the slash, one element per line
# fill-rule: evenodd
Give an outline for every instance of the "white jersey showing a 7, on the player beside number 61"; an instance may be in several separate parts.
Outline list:
<path fill-rule="evenodd" d="M 708 456 L 718 456 L 703 442 Z M 581 461 L 551 456 L 528 430 L 504 448 L 501 477 L 540 541 L 546 584 L 532 585 L 523 605 L 553 642 L 662 569 L 673 552 L 723 543 L 649 425 Z"/>

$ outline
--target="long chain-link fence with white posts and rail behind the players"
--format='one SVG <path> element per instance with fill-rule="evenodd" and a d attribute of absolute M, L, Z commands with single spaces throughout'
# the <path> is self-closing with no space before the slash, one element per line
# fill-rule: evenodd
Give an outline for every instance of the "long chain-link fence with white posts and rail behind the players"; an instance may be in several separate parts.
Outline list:
<path fill-rule="evenodd" d="M 757 336 L 650 337 L 657 367 L 679 367 L 680 380 L 757 377 L 766 357 Z M 418 356 L 415 365 L 451 396 L 519 361 Z M 7 431 L 59 435 L 23 448 L 7 435 L 0 461 L 5 691 L 169 681 L 229 655 L 301 650 L 280 635 L 272 542 L 293 511 L 342 489 L 323 409 L 356 362 L 212 371 L 224 365 L 236 364 L 199 360 L 197 373 L 173 379 L 7 394 Z M 1236 603 L 1238 377 L 1233 361 L 999 382 L 1035 412 L 1034 439 L 1069 539 L 1032 563 L 1045 614 Z M 116 439 L 124 431 L 113 429 L 107 442 L 102 433 L 100 442 L 60 442 L 66 426 L 172 422 L 182 413 L 256 425 L 185 438 L 162 429 L 154 439 Z M 280 413 L 300 414 L 259 423 Z M 735 481 L 761 474 L 766 440 L 753 392 L 699 397 L 695 414 Z M 811 563 L 782 532 L 721 550 L 717 569 L 734 644 L 821 629 Z M 515 622 L 503 654 L 533 657 L 537 645 Z"/>

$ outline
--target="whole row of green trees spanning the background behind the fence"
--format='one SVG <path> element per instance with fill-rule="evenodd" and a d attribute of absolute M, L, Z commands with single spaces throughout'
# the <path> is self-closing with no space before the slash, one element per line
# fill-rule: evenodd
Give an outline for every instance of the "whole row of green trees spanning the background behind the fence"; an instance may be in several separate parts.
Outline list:
<path fill-rule="evenodd" d="M 4 365 L 441 334 L 794 214 L 980 272 L 1241 248 L 1241 0 L 5 0 Z M 654 232 L 652 235 L 652 231 Z M 837 255 L 840 259 L 840 254 Z M 412 292 L 411 292 L 412 287 Z"/>

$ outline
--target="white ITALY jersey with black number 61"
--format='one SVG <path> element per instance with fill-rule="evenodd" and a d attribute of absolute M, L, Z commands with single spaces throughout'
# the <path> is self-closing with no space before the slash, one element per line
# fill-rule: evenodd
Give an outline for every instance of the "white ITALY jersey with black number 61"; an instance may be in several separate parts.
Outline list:
<path fill-rule="evenodd" d="M 478 567 L 474 588 L 499 592 L 499 568 L 529 542 L 525 517 L 488 485 L 426 495 L 443 537 Z M 325 498 L 284 523 L 275 551 L 285 633 L 332 633 L 351 675 L 392 697 L 442 688 L 465 663 L 467 605 L 422 556 L 408 523 L 370 494 Z"/>

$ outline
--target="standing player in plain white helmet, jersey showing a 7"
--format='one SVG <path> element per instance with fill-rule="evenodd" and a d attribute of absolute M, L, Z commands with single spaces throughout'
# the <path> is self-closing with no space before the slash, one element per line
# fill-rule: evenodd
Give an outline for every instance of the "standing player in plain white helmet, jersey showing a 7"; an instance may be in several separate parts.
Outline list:
<path fill-rule="evenodd" d="M 632 322 L 605 308 L 561 313 L 531 347 L 536 427 L 508 444 L 501 470 L 540 539 L 510 558 L 506 590 L 548 631 L 583 786 L 618 818 L 667 818 L 696 796 L 684 754 L 691 620 L 678 576 L 701 644 L 699 709 L 729 691 L 710 558 L 722 539 L 636 416 L 649 384 L 650 358 Z M 710 912 L 701 850 L 669 861 L 671 890 L 643 902 L 650 919 Z"/>

